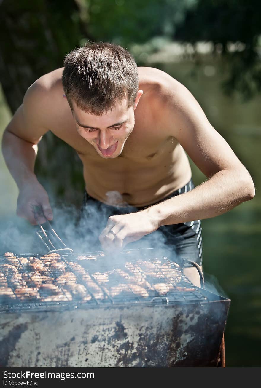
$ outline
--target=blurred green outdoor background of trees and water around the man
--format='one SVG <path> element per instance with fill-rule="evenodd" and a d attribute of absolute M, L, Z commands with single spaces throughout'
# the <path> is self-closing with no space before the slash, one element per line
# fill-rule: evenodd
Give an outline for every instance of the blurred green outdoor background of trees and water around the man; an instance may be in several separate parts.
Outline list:
<path fill-rule="evenodd" d="M 62 67 L 66 53 L 89 40 L 113 42 L 139 66 L 162 69 L 183 83 L 250 171 L 255 198 L 202 223 L 204 271 L 231 298 L 228 367 L 261 365 L 260 14 L 258 0 L 0 0 L 1 137 L 26 89 Z M 191 167 L 198 185 L 205 177 Z M 36 171 L 55 204 L 80 208 L 81 163 L 51 133 L 39 145 Z M 24 233 L 26 241 L 30 225 L 16 217 L 18 191 L 2 154 L 0 182 L 0 234 L 10 230 L 16 239 Z M 6 250 L 7 241 L 0 252 Z"/>

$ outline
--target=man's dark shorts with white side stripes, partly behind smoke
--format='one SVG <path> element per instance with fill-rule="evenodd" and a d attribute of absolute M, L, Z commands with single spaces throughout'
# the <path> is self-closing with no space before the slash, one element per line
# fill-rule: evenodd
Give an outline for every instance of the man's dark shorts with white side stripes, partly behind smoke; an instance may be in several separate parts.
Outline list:
<path fill-rule="evenodd" d="M 194 188 L 192 179 L 184 187 L 174 191 L 170 196 L 173 198 Z M 160 201 L 160 202 L 162 202 Z M 157 203 L 160 203 L 157 202 Z M 150 205 L 152 206 L 152 205 Z M 91 236 L 91 250 L 100 250 L 99 234 L 102 232 L 108 218 L 113 215 L 134 213 L 148 208 L 136 208 L 134 206 L 117 207 L 106 205 L 84 192 L 84 201 L 81 209 L 80 222 L 85 236 Z M 181 260 L 192 260 L 202 265 L 202 227 L 200 220 L 164 225 L 142 239 L 131 242 L 127 249 L 154 248 L 159 256 L 167 256 L 176 263 Z"/>

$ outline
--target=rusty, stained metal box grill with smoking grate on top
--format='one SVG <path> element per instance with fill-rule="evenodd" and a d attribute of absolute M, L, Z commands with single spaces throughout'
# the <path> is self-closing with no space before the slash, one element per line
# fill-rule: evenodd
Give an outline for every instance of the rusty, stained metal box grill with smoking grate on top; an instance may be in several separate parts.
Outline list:
<path fill-rule="evenodd" d="M 0 255 L 0 366 L 217 366 L 230 301 L 194 286 L 179 265 L 142 250 L 57 257 Z M 34 291 L 21 294 L 19 279 Z"/>

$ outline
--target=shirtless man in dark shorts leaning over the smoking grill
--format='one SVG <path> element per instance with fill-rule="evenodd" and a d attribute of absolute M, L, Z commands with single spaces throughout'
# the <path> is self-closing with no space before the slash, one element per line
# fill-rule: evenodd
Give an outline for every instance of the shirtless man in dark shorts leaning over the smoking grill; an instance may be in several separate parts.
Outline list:
<path fill-rule="evenodd" d="M 32 224 L 33 205 L 52 220 L 47 192 L 33 172 L 37 144 L 49 130 L 82 160 L 87 208 L 94 202 L 111 211 L 99 236 L 104 249 L 162 230 L 177 248 L 177 261 L 201 265 L 200 219 L 255 194 L 248 171 L 190 92 L 163 71 L 137 68 L 111 43 L 66 55 L 64 69 L 31 85 L 5 130 L 3 155 L 19 188 L 17 215 Z M 195 188 L 185 151 L 207 177 Z M 110 192 L 118 194 L 113 203 Z"/>

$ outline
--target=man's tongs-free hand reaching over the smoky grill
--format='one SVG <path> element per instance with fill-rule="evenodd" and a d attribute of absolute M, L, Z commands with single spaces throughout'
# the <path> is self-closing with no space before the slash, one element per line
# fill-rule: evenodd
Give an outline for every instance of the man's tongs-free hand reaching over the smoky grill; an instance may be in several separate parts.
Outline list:
<path fill-rule="evenodd" d="M 137 213 L 111 216 L 99 240 L 104 250 L 123 248 L 129 242 L 137 241 L 158 229 L 158 222 L 147 210 Z"/>

